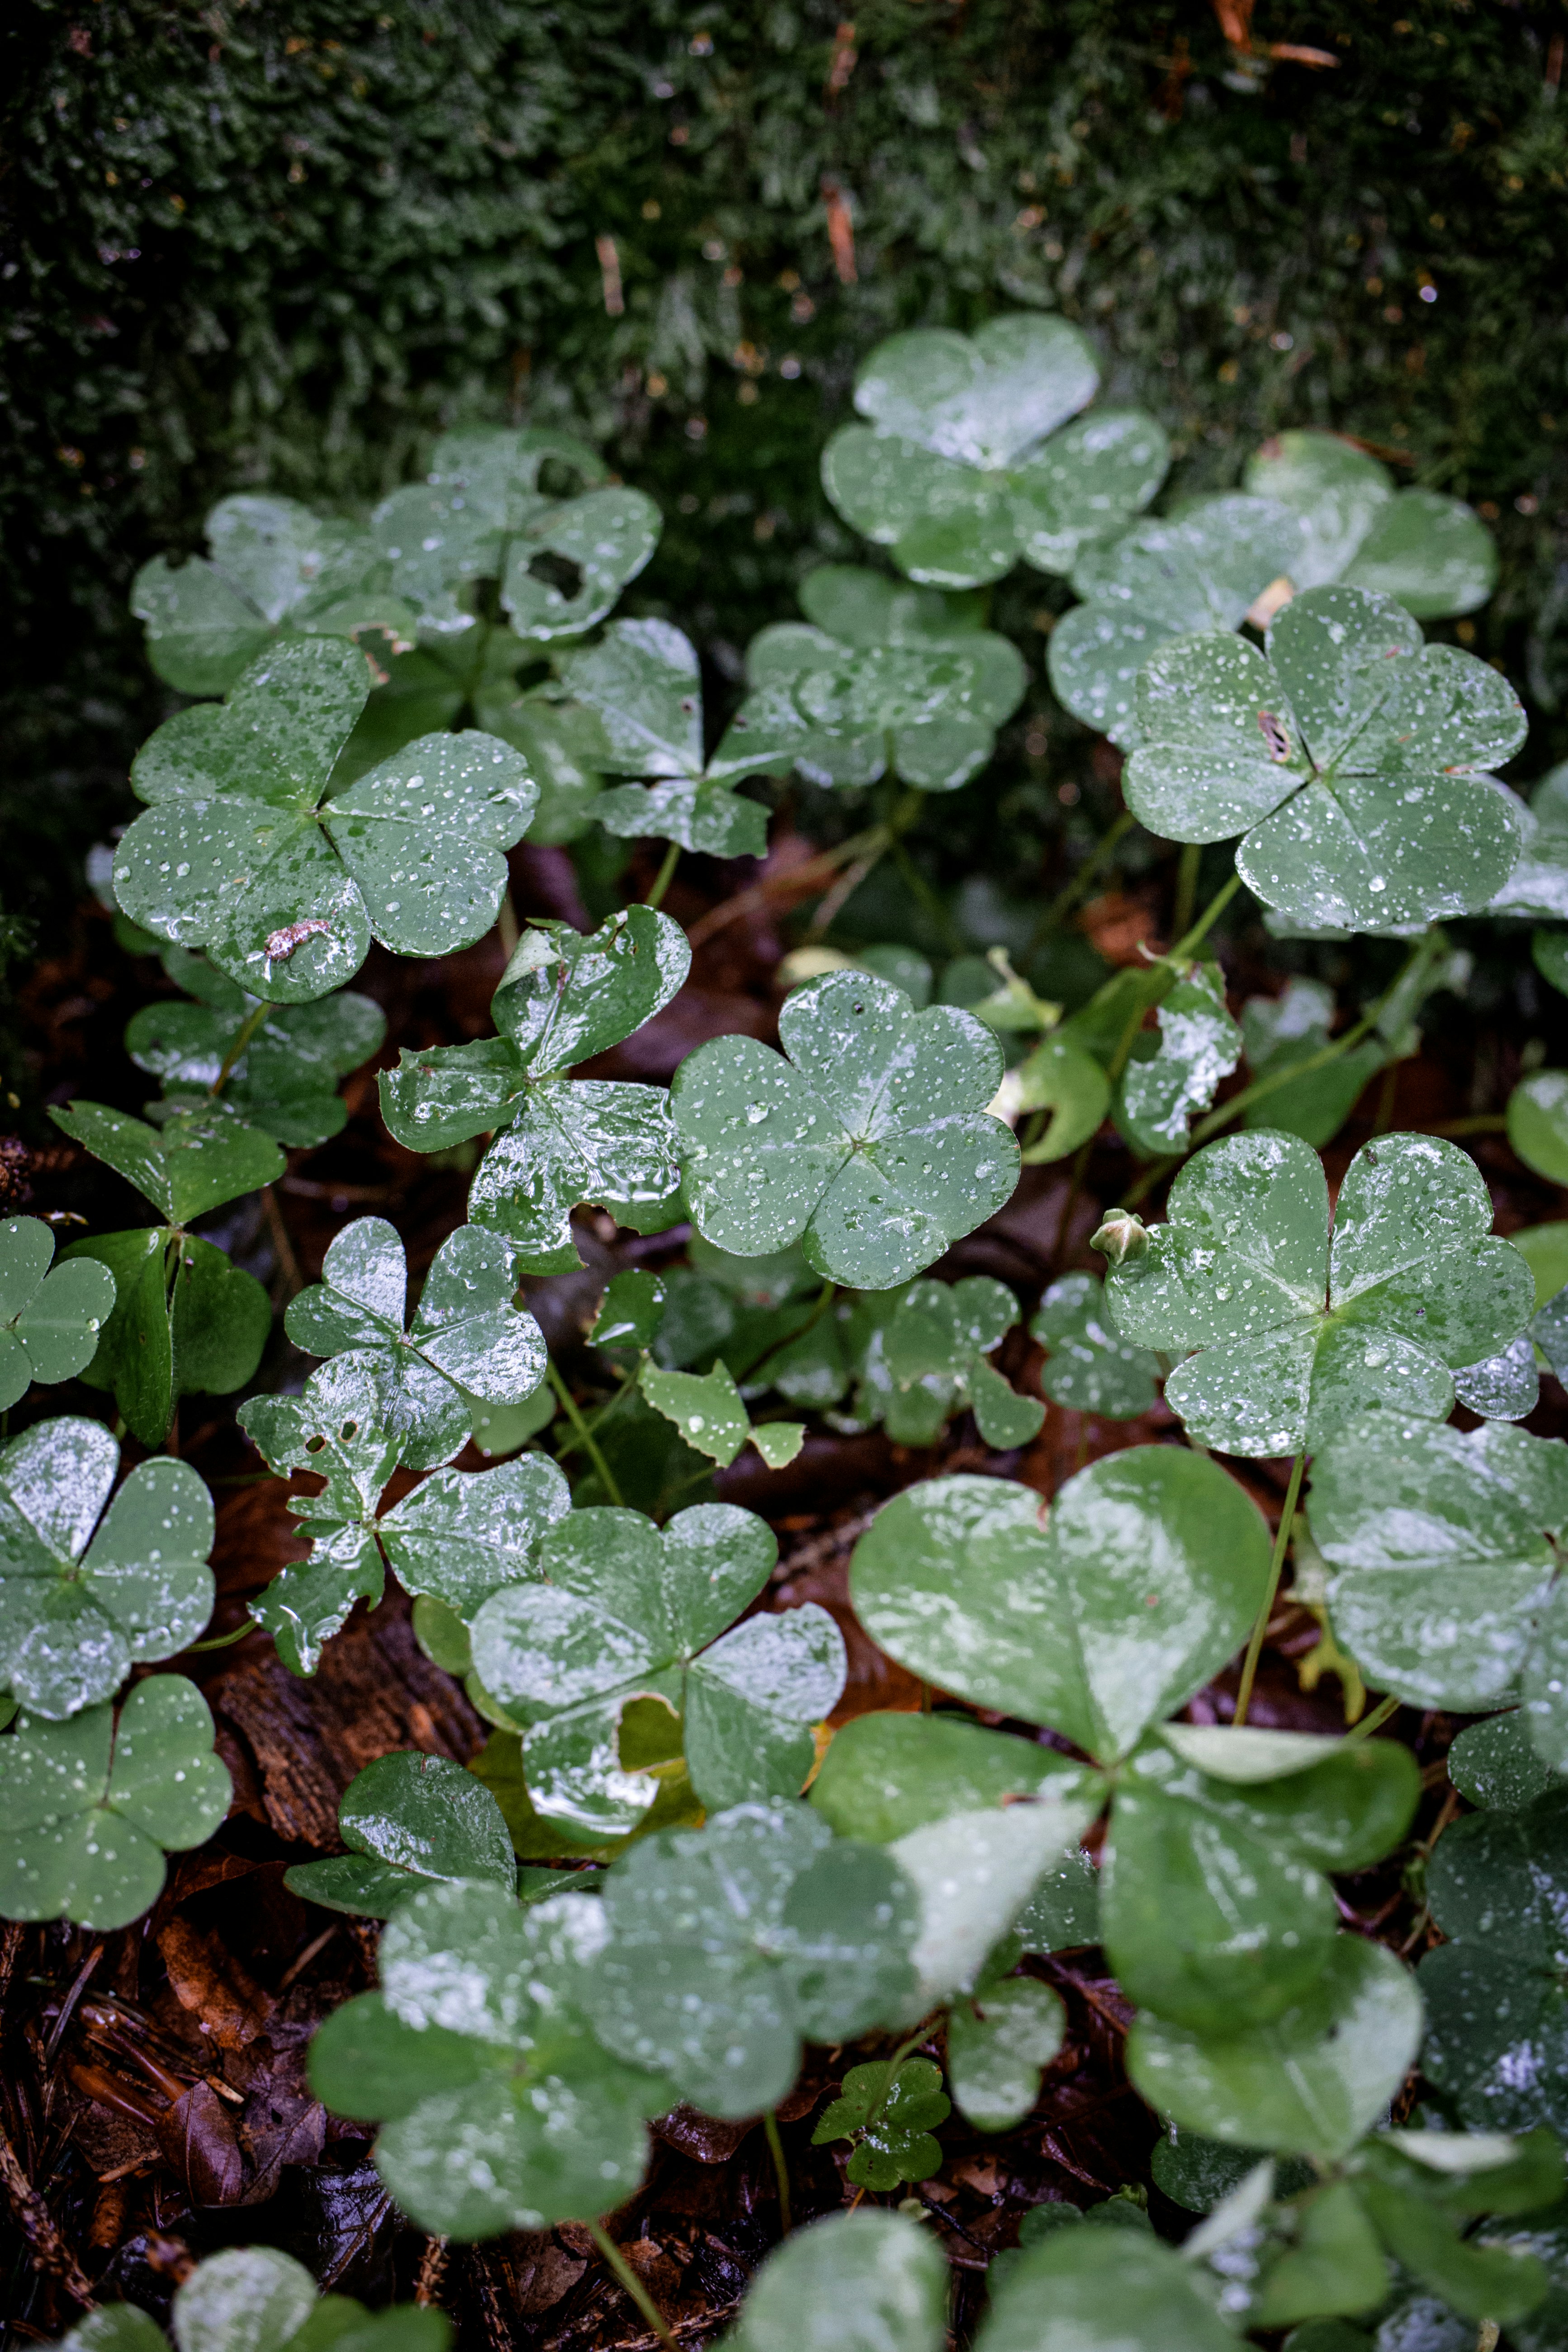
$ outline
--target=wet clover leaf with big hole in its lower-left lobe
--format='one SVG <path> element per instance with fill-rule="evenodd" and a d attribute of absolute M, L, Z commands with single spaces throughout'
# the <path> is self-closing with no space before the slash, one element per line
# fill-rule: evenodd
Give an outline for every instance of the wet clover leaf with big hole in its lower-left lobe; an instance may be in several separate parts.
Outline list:
<path fill-rule="evenodd" d="M 637 1828 L 658 1795 L 621 1759 L 637 1698 L 682 1717 L 703 1804 L 799 1790 L 816 1759 L 811 1724 L 844 1689 L 844 1637 L 816 1602 L 736 1625 L 776 1552 L 766 1522 L 733 1503 L 696 1503 L 663 1531 L 630 1510 L 576 1510 L 543 1538 L 541 1581 L 484 1602 L 475 1675 L 522 1729 L 545 1818 L 578 1837 Z"/>

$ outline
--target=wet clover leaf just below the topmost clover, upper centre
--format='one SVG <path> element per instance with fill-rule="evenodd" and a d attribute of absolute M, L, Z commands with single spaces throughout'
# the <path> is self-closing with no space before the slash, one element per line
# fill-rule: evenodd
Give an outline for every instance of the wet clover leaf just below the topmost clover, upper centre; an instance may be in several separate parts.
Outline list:
<path fill-rule="evenodd" d="M 795 767 L 809 783 L 865 786 L 884 774 L 924 793 L 976 776 L 1027 673 L 1009 637 L 959 600 L 900 588 L 879 572 L 823 564 L 802 590 L 806 623 L 752 637 L 752 689 L 783 687 L 811 722 Z"/>

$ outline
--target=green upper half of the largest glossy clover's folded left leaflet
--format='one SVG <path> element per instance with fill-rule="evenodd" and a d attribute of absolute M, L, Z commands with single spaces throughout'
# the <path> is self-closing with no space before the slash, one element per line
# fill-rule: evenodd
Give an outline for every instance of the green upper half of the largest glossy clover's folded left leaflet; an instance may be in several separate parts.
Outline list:
<path fill-rule="evenodd" d="M 1077 1795 L 1084 1778 L 1081 1764 L 966 1715 L 856 1715 L 835 1731 L 811 1804 L 839 1837 L 891 1846 L 952 1813 Z"/>

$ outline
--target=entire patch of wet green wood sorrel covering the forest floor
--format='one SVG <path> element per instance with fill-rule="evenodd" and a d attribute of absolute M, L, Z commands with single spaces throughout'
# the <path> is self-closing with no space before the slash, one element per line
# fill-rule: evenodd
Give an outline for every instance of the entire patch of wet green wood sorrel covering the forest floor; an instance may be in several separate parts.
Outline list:
<path fill-rule="evenodd" d="M 1331 435 L 1286 435 L 1246 489 L 1147 517 L 1164 433 L 1088 407 L 1095 383 L 1077 329 L 1034 315 L 872 353 L 825 487 L 914 586 L 811 572 L 809 621 L 752 642 L 722 729 L 693 642 L 614 616 L 658 536 L 651 501 L 562 435 L 447 435 L 369 524 L 226 499 L 209 557 L 141 574 L 150 656 L 195 701 L 136 760 L 146 807 L 113 896 L 120 943 L 158 953 L 183 1000 L 129 1023 L 162 1084 L 143 1120 L 54 1110 L 155 1223 L 87 1232 L 61 1263 L 40 1221 L 0 1230 L 2 1374 L 26 1414 L 0 1454 L 0 1910 L 108 1933 L 158 1898 L 165 1851 L 219 1825 L 207 1705 L 141 1668 L 200 1646 L 214 1604 L 179 1399 L 249 1390 L 240 1430 L 310 1482 L 289 1496 L 306 1557 L 249 1623 L 310 1677 L 390 1566 L 494 1729 L 473 1771 L 376 1757 L 341 1802 L 346 1853 L 289 1870 L 299 1898 L 386 1922 L 381 1985 L 322 2025 L 310 2082 L 378 2129 L 381 2180 L 425 2232 L 585 2223 L 668 2340 L 599 2220 L 637 2192 L 649 2119 L 762 2114 L 788 2230 L 776 2107 L 806 2044 L 837 2065 L 865 2039 L 813 2140 L 891 2197 L 938 2171 L 954 2107 L 985 2133 L 1027 2119 L 1067 2032 L 1037 1971 L 1098 1945 L 1166 2131 L 1154 2178 L 1206 2218 L 1178 2251 L 1126 2199 L 1086 2223 L 1039 2209 L 994 2265 L 983 2352 L 1222 2352 L 1312 2321 L 1340 2333 L 1302 2352 L 1345 2352 L 1345 2321 L 1415 2293 L 1483 2345 L 1507 2326 L 1544 2352 L 1568 2307 L 1568 2100 L 1540 2058 L 1566 1966 L 1568 1449 L 1509 1423 L 1535 1399 L 1530 1334 L 1568 1357 L 1561 1282 L 1493 1237 L 1455 1141 L 1375 1134 L 1333 1209 L 1319 1160 L 1366 1077 L 1413 1051 L 1422 1002 L 1465 985 L 1436 917 L 1542 903 L 1544 818 L 1528 835 L 1486 774 L 1521 708 L 1415 619 L 1483 600 L 1490 541 Z M 769 847 L 757 779 L 882 793 L 816 861 L 853 880 L 884 856 L 903 870 L 940 809 L 919 795 L 985 774 L 1027 663 L 971 590 L 1013 562 L 1070 576 L 1053 684 L 1135 746 L 1131 814 L 1084 877 L 1133 816 L 1185 844 L 1241 837 L 1206 908 L 1182 854 L 1171 950 L 1067 1009 L 1023 948 L 985 941 L 987 962 L 938 978 L 912 938 L 806 941 L 778 1049 L 708 1037 L 668 1089 L 576 1075 L 679 997 L 691 941 L 658 901 L 682 851 Z M 529 828 L 597 844 L 599 877 L 607 840 L 670 849 L 646 898 L 599 896 L 583 931 L 512 908 Z M 1526 835 L 1535 880 L 1516 875 Z M 1403 962 L 1354 1018 L 1298 974 L 1237 1021 L 1213 929 L 1244 882 L 1276 934 L 1396 936 Z M 1067 913 L 1041 913 L 1037 946 Z M 437 957 L 491 929 L 494 1035 L 402 1044 L 378 1075 L 395 1143 L 468 1176 L 468 1218 L 416 1284 L 393 1221 L 346 1218 L 284 1315 L 317 1367 L 256 1385 L 273 1301 L 221 1228 L 193 1225 L 263 1195 L 282 1230 L 287 1152 L 343 1127 L 336 1089 L 381 1049 L 376 1002 L 346 985 L 371 946 Z M 1537 1155 L 1552 1101 L 1530 1096 Z M 1060 1258 L 1107 1117 L 1140 1164 L 1095 1232 L 1100 1287 Z M 1044 1296 L 933 1272 L 1020 1167 L 1067 1155 Z M 607 1256 L 585 1209 L 656 1268 Z M 550 1357 L 550 1277 L 597 1298 L 588 1369 Z M 1013 1343 L 1027 1310 L 1044 1376 Z M 71 1378 L 113 1395 L 113 1432 L 33 1406 Z M 1126 1446 L 1041 1496 L 1023 1449 L 1044 1399 L 1138 1421 L 1161 1383 L 1190 1444 Z M 1483 1428 L 1446 1425 L 1455 1397 Z M 776 1534 L 712 1470 L 745 1458 L 764 1503 L 769 1475 L 811 1463 L 813 1416 L 929 1449 L 961 1411 L 980 1451 L 905 1482 L 849 1578 L 853 1639 L 926 1710 L 835 1733 L 844 1625 L 769 1606 Z M 122 1437 L 150 1458 L 125 1461 Z M 1215 1456 L 1288 1461 L 1276 1529 Z M 1293 1541 L 1324 1642 L 1382 1693 L 1345 1736 L 1246 1722 Z M 1453 1788 L 1486 1811 L 1441 1846 L 1408 1844 L 1410 1750 L 1366 1736 L 1399 1700 L 1497 1710 L 1455 1748 Z M 520 1872 L 520 1851 L 550 1867 Z M 1345 1933 L 1335 1877 L 1387 1856 L 1450 1938 L 1420 1971 Z M 1507 1933 L 1483 1957 L 1493 1903 Z M 1418 2056 L 1434 2105 L 1413 2117 Z M 296 2265 L 219 2256 L 176 2298 L 181 2352 L 237 2343 L 230 2288 L 259 2352 L 329 2340 Z M 936 2352 L 938 2288 L 907 2213 L 853 2211 L 769 2258 L 731 2340 Z M 360 2319 L 331 2317 L 331 2340 Z M 150 2331 L 103 2326 L 73 2343 L 141 2352 Z M 376 2324 L 393 2338 L 444 2340 L 418 2312 Z"/>

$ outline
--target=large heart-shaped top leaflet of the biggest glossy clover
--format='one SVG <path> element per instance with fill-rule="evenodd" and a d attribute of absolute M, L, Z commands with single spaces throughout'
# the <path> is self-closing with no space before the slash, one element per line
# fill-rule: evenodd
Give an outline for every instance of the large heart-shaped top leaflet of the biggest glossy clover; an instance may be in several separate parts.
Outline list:
<path fill-rule="evenodd" d="M 931 1479 L 860 1538 L 851 1599 L 910 1672 L 1065 1731 L 1112 1762 L 1237 1651 L 1267 1583 L 1267 1529 L 1199 1454 L 1135 1446 L 1039 1496 Z"/>

